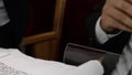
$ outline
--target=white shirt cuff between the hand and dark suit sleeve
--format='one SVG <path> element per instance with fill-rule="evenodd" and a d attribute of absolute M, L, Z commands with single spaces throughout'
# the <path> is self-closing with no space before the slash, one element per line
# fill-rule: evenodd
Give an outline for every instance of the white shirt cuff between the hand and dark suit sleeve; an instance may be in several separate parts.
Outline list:
<path fill-rule="evenodd" d="M 96 23 L 96 38 L 97 38 L 97 41 L 99 43 L 103 44 L 109 39 L 114 38 L 114 36 L 119 35 L 122 32 L 122 31 L 120 31 L 117 34 L 107 34 L 100 26 L 100 19 L 101 19 L 101 17 L 98 19 L 98 21 Z"/>

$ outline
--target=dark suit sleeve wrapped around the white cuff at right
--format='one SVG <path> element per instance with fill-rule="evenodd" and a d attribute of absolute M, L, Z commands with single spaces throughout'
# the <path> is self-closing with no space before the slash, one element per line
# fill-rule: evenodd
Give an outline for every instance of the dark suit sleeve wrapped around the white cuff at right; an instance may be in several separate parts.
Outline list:
<path fill-rule="evenodd" d="M 101 49 L 101 50 L 114 52 L 114 53 L 122 53 L 124 45 L 128 43 L 130 39 L 130 33 L 122 32 L 116 38 L 110 39 L 105 44 L 100 44 L 95 36 L 96 35 L 95 26 L 96 26 L 97 20 L 101 15 L 103 4 L 105 4 L 105 1 L 96 6 L 92 12 L 87 18 L 86 34 L 87 34 L 88 43 L 90 46 L 96 49 Z"/>

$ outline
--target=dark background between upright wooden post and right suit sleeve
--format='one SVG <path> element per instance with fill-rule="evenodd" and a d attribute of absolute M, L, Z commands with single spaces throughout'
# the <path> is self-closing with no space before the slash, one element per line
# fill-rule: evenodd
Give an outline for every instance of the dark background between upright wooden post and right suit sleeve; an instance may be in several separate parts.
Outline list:
<path fill-rule="evenodd" d="M 86 19 L 92 7 L 101 0 L 66 0 L 66 9 L 62 28 L 61 57 L 67 43 L 88 45 L 85 34 Z"/>

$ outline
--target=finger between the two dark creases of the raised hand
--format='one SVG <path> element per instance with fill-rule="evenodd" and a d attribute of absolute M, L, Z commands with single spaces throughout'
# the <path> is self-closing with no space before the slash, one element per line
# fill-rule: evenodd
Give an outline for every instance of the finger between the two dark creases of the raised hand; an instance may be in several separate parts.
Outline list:
<path fill-rule="evenodd" d="M 116 20 L 118 23 L 122 24 L 122 26 L 132 30 L 132 19 L 128 17 L 127 14 L 120 12 L 120 10 L 117 10 L 111 7 L 109 8 L 109 10 L 105 10 L 105 13 L 111 19 Z"/>

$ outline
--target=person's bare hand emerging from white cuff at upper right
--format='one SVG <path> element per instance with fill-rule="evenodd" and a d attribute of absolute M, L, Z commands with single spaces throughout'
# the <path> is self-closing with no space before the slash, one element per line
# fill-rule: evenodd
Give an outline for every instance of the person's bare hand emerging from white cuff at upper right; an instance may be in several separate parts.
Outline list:
<path fill-rule="evenodd" d="M 106 0 L 100 24 L 106 32 L 132 32 L 132 0 Z"/>

